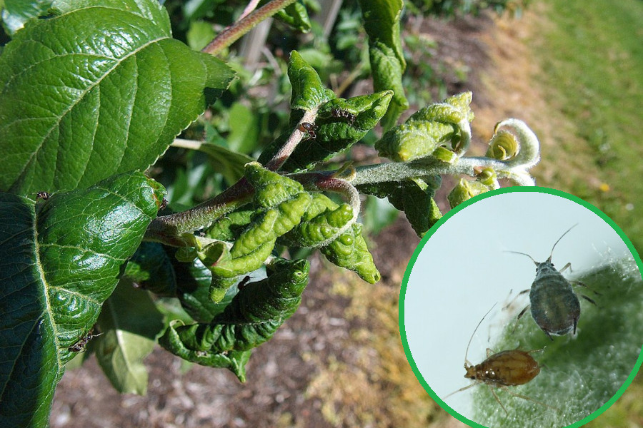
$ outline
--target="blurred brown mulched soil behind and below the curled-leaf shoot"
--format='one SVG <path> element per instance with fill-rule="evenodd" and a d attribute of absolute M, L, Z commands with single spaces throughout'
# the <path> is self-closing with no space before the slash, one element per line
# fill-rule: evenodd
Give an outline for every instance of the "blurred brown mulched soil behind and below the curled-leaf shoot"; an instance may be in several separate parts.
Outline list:
<path fill-rule="evenodd" d="M 509 105 L 495 93 L 502 79 L 498 61 L 520 56 L 509 46 L 520 45 L 520 34 L 506 22 L 484 15 L 425 19 L 419 26 L 438 41 L 436 58 L 469 67 L 466 82 L 446 77 L 449 93 L 474 91 L 474 124 L 480 125 L 474 131 L 482 141 Z M 499 34 L 507 38 L 503 46 Z M 445 208 L 445 193 L 438 196 Z M 51 427 L 464 427 L 424 392 L 402 350 L 399 286 L 417 243 L 403 216 L 374 238 L 371 248 L 382 272 L 377 285 L 314 256 L 301 307 L 255 350 L 245 384 L 226 370 L 186 367 L 157 348 L 145 361 L 148 394 L 121 395 L 91 357 L 61 380 Z"/>

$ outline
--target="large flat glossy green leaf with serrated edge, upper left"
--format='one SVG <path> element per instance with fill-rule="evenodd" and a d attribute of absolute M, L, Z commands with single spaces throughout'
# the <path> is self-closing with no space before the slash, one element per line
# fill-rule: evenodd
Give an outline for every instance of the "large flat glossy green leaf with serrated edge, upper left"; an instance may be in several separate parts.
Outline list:
<path fill-rule="evenodd" d="M 234 73 L 154 0 L 69 1 L 0 56 L 0 190 L 85 188 L 156 161 Z M 210 101 L 210 100 L 209 100 Z"/>

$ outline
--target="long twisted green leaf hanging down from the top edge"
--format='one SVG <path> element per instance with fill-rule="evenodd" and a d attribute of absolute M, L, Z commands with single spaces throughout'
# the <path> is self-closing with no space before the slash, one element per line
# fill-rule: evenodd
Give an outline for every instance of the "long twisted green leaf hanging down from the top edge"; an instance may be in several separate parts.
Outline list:
<path fill-rule="evenodd" d="M 392 128 L 399 115 L 409 108 L 404 96 L 402 74 L 407 67 L 399 37 L 402 0 L 359 0 L 364 16 L 364 29 L 369 35 L 369 56 L 375 91 L 394 93 L 389 110 L 382 119 L 384 130 Z"/>

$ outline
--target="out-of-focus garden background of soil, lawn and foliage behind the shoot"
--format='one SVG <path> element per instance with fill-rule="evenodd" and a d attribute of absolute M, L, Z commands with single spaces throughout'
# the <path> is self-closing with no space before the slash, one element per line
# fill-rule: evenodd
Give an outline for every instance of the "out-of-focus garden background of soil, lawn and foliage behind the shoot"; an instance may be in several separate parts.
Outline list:
<path fill-rule="evenodd" d="M 204 136 L 256 157 L 287 124 L 292 49 L 338 96 L 372 92 L 357 1 L 304 3 L 311 11 L 308 34 L 269 20 L 232 46 L 228 58 L 239 79 L 186 138 Z M 532 170 L 538 184 L 596 205 L 643 248 L 643 1 L 405 3 L 408 114 L 473 91 L 469 156 L 484 154 L 495 123 L 522 119 L 542 144 L 542 161 Z M 170 0 L 165 6 L 174 36 L 201 49 L 246 1 Z M 375 156 L 369 144 L 376 133 L 347 156 L 357 162 Z M 171 148 L 150 172 L 169 190 L 170 207 L 180 210 L 235 180 L 228 166 L 224 158 L 214 162 Z M 437 195 L 443 211 L 453 184 L 445 180 Z M 230 372 L 189 365 L 156 349 L 146 359 L 147 395 L 120 395 L 90 357 L 68 370 L 56 389 L 51 427 L 464 426 L 424 391 L 400 342 L 399 287 L 419 238 L 385 200 L 369 197 L 364 210 L 382 281 L 369 285 L 313 254 L 301 307 L 254 352 L 246 384 Z M 588 426 L 642 427 L 642 397 L 639 376 Z"/>

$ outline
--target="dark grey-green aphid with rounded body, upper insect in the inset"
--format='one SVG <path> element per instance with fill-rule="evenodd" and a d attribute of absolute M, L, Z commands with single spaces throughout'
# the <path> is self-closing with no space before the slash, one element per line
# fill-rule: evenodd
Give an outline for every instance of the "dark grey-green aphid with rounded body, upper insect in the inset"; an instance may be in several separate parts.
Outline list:
<path fill-rule="evenodd" d="M 567 235 L 569 230 L 572 230 L 576 225 L 567 229 L 560 238 L 554 243 L 552 253 L 549 253 L 549 258 L 544 262 L 538 263 L 529 254 L 518 253 L 517 251 L 509 251 L 508 253 L 516 253 L 526 255 L 532 259 L 536 265 L 536 278 L 532 283 L 529 290 L 524 290 L 519 294 L 529 292 L 529 305 L 525 307 L 518 315 L 518 320 L 524 312 L 531 307 L 532 317 L 542 331 L 552 339 L 552 335 L 562 336 L 568 333 L 576 334 L 576 327 L 580 317 L 580 303 L 578 296 L 572 288 L 572 283 L 565 279 L 562 272 L 571 267 L 571 263 L 567 263 L 561 270 L 556 270 L 552 263 L 552 254 L 556 244 L 562 240 L 564 235 Z M 576 285 L 582 285 L 577 283 Z M 582 297 L 589 302 L 596 305 L 594 300 L 582 295 Z"/>

